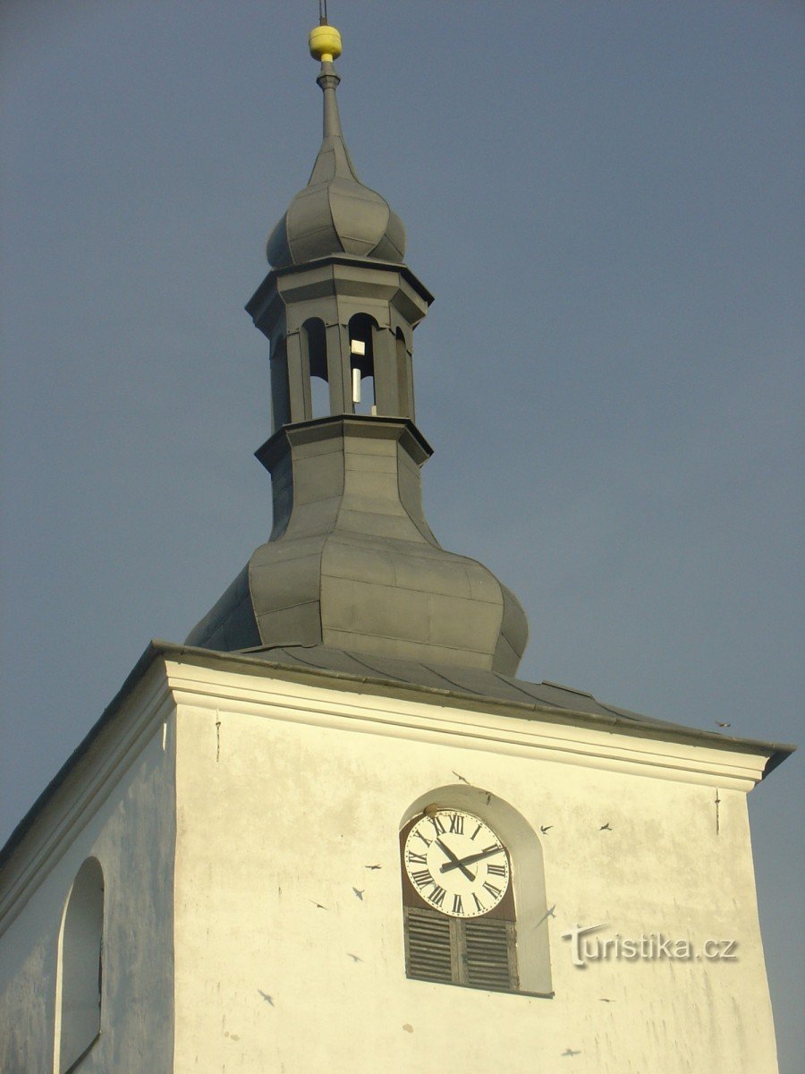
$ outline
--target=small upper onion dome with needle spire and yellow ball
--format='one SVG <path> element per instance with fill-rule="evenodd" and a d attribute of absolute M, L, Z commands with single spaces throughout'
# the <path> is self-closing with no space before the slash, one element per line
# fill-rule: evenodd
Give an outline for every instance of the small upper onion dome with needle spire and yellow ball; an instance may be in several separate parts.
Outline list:
<path fill-rule="evenodd" d="M 274 268 L 284 268 L 333 253 L 399 263 L 406 232 L 399 217 L 377 191 L 357 177 L 343 140 L 333 60 L 341 54 L 341 35 L 333 26 L 310 32 L 310 55 L 320 60 L 316 79 L 323 95 L 322 144 L 304 190 L 272 232 L 266 253 Z"/>

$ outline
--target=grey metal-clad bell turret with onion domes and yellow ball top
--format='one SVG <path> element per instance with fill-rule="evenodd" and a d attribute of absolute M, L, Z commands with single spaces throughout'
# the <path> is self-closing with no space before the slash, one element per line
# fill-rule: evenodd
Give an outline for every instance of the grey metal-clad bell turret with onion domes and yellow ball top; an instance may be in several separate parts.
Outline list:
<path fill-rule="evenodd" d="M 323 137 L 307 186 L 267 244 L 246 308 L 269 344 L 269 539 L 188 643 L 219 651 L 324 645 L 513 674 L 528 638 L 516 597 L 441 548 L 424 516 L 431 454 L 414 424 L 413 331 L 433 297 L 404 263 L 405 229 L 357 177 L 338 114 L 331 26 Z"/>

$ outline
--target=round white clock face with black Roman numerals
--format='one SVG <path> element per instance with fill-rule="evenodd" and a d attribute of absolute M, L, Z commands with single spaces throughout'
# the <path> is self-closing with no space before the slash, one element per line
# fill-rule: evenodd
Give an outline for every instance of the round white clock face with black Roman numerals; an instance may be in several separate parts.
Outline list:
<path fill-rule="evenodd" d="M 509 887 L 509 856 L 483 821 L 462 810 L 420 817 L 402 850 L 421 898 L 452 917 L 488 913 Z"/>

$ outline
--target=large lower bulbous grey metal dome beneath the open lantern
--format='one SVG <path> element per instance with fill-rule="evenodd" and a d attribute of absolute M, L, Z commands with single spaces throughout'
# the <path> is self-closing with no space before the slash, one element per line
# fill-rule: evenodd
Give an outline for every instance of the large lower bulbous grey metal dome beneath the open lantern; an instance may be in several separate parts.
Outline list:
<path fill-rule="evenodd" d="M 258 452 L 273 477 L 272 539 L 188 643 L 231 651 L 257 636 L 252 645 L 516 671 L 525 613 L 491 570 L 437 542 L 422 509 L 429 455 L 405 419 L 354 415 L 280 430 Z"/>

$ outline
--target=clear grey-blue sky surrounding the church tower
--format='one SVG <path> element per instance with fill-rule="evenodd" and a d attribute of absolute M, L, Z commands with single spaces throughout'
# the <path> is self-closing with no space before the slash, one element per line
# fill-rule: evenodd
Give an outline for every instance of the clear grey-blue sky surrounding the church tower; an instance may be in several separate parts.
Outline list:
<path fill-rule="evenodd" d="M 243 306 L 319 144 L 316 6 L 0 11 L 0 841 L 268 533 Z M 803 8 L 330 6 L 357 172 L 436 295 L 428 520 L 519 596 L 522 676 L 797 741 Z M 801 771 L 750 796 L 784 1072 Z"/>

